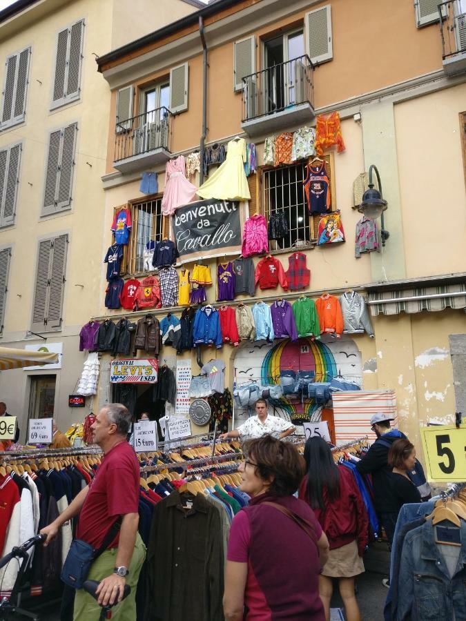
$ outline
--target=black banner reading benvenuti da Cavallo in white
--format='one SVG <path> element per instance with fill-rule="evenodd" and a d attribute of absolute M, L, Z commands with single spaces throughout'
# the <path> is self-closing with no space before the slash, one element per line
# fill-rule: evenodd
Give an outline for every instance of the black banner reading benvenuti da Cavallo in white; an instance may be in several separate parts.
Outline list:
<path fill-rule="evenodd" d="M 208 199 L 178 207 L 172 218 L 179 261 L 241 252 L 238 201 Z"/>

